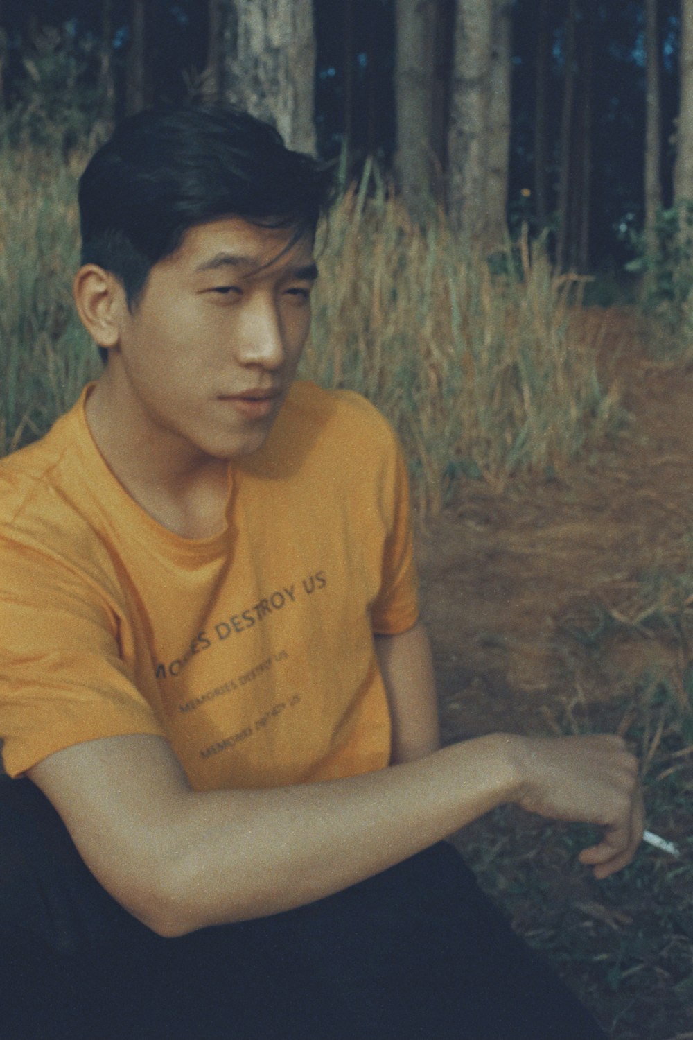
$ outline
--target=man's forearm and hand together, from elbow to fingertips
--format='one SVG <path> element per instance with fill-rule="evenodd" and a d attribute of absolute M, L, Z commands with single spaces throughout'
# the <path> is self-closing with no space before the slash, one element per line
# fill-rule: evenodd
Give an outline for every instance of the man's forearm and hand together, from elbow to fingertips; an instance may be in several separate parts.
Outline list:
<path fill-rule="evenodd" d="M 184 853 L 170 876 L 175 929 L 331 894 L 502 803 L 599 826 L 601 839 L 580 854 L 597 878 L 632 859 L 643 827 L 637 760 L 611 735 L 490 734 L 345 780 L 195 797 L 187 848 L 203 852 Z"/>

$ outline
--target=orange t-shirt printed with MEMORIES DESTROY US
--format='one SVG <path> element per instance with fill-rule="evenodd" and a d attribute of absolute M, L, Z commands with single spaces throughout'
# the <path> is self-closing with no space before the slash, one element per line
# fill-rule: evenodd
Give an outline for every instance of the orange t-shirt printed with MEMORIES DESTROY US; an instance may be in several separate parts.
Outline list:
<path fill-rule="evenodd" d="M 225 529 L 181 538 L 127 494 L 79 402 L 0 462 L 0 738 L 164 735 L 196 789 L 365 773 L 390 757 L 372 633 L 418 616 L 406 472 L 364 398 L 292 388 L 230 467 Z"/>

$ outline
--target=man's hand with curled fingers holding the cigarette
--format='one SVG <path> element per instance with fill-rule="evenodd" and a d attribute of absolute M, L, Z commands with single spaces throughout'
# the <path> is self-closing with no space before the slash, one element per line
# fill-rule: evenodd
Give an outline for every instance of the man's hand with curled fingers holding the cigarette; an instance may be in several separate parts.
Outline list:
<path fill-rule="evenodd" d="M 513 801 L 552 820 L 596 824 L 602 840 L 580 860 L 607 878 L 633 859 L 642 840 L 638 761 L 618 736 L 513 737 L 523 777 Z"/>

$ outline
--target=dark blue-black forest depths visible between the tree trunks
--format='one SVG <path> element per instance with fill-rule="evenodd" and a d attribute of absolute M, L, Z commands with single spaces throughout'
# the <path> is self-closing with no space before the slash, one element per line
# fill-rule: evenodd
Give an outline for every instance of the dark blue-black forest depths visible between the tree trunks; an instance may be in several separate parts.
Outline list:
<path fill-rule="evenodd" d="M 55 120 L 72 121 L 76 133 L 82 132 L 91 120 L 123 115 L 132 107 L 129 77 L 136 6 L 132 0 L 0 0 L 0 96 L 5 110 L 11 112 L 18 103 L 30 103 L 39 94 Z M 208 4 L 150 0 L 145 7 L 145 103 L 195 94 L 209 60 Z M 543 29 L 542 8 L 548 19 Z M 390 166 L 396 144 L 395 0 L 315 0 L 314 10 L 319 151 L 325 157 L 335 157 L 347 148 L 355 167 L 369 154 Z M 508 177 L 508 220 L 513 232 L 523 220 L 537 231 L 541 224 L 551 226 L 554 219 L 568 16 L 568 0 L 513 3 Z M 584 0 L 575 17 L 577 95 L 589 103 L 591 120 L 589 140 L 576 142 L 579 153 L 589 155 L 591 165 L 588 266 L 592 270 L 621 269 L 633 254 L 633 233 L 643 223 L 643 5 L 628 0 Z M 666 208 L 671 205 L 673 134 L 678 110 L 676 0 L 661 0 L 659 22 Z M 443 118 L 452 64 L 453 23 L 454 0 L 441 0 L 435 74 Z M 549 34 L 544 159 L 548 199 L 547 212 L 538 213 L 534 154 L 537 60 L 539 48 L 545 47 L 542 31 Z M 581 77 L 584 80 L 587 75 L 590 88 L 581 94 Z M 441 159 L 445 162 L 444 154 Z"/>

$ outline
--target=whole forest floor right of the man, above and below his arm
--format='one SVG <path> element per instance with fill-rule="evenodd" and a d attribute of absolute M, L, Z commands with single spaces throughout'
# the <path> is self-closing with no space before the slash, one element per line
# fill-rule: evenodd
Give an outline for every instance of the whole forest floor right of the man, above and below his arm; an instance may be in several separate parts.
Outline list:
<path fill-rule="evenodd" d="M 419 540 L 447 742 L 618 730 L 645 762 L 643 847 L 604 882 L 585 828 L 502 808 L 456 837 L 514 926 L 609 1035 L 693 1038 L 693 364 L 657 360 L 638 317 L 587 311 L 619 434 L 535 482 L 465 482 Z M 595 347 L 596 348 L 596 347 Z"/>

